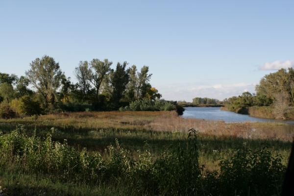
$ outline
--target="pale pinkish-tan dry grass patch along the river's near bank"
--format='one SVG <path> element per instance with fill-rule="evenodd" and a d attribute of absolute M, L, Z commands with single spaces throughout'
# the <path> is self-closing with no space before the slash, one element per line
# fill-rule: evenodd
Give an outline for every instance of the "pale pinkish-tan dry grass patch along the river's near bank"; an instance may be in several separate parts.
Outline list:
<path fill-rule="evenodd" d="M 187 132 L 195 128 L 199 133 L 220 137 L 239 137 L 250 139 L 292 141 L 293 126 L 282 123 L 224 123 L 203 119 L 181 118 L 176 116 L 156 118 L 148 127 L 161 131 Z"/>

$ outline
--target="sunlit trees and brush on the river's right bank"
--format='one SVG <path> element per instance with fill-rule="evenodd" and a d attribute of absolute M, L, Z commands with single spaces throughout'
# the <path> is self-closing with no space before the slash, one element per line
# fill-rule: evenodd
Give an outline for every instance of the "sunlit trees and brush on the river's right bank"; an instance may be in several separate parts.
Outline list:
<path fill-rule="evenodd" d="M 280 69 L 261 78 L 256 94 L 225 98 L 222 103 L 229 111 L 256 117 L 294 119 L 294 70 Z"/>

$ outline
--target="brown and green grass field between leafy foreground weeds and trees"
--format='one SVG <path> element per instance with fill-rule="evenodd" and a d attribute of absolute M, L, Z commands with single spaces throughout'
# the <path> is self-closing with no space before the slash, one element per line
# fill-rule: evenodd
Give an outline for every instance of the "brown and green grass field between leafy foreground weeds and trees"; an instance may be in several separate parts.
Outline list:
<path fill-rule="evenodd" d="M 0 120 L 0 131 L 5 133 L 23 124 L 26 130 L 35 127 L 38 136 L 46 137 L 51 127 L 58 130 L 52 133 L 54 140 L 68 144 L 76 149 L 87 147 L 100 151 L 118 138 L 122 147 L 132 151 L 143 150 L 147 141 L 152 156 L 156 157 L 171 143 L 186 141 L 191 128 L 198 130 L 199 164 L 205 171 L 219 170 L 219 159 L 230 159 L 234 150 L 244 143 L 257 149 L 262 143 L 269 143 L 273 154 L 282 154 L 287 164 L 293 139 L 293 126 L 282 123 L 224 123 L 202 119 L 184 119 L 176 112 L 76 112 L 44 115 L 38 119 Z M 152 130 L 152 131 L 151 131 Z M 217 150 L 217 151 L 215 151 Z"/>

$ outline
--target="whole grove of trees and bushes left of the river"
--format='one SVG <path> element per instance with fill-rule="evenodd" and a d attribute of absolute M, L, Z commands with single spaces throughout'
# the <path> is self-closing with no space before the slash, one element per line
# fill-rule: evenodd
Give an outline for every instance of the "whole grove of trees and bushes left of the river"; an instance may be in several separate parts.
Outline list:
<path fill-rule="evenodd" d="M 135 65 L 127 68 L 126 61 L 117 63 L 115 69 L 111 69 L 112 64 L 108 59 L 80 61 L 73 72 L 78 81 L 76 84 L 65 76 L 59 63 L 46 55 L 32 61 L 25 76 L 0 73 L 0 118 L 64 111 L 119 110 L 121 107 L 127 110 L 126 106 L 133 102 L 136 105 L 148 102 L 150 107 L 143 105 L 144 111 L 164 109 L 181 114 L 183 108 L 176 101 L 161 99 L 159 107 L 151 107 L 161 94 L 149 83 L 152 74 L 148 66 L 143 66 L 139 72 Z"/>

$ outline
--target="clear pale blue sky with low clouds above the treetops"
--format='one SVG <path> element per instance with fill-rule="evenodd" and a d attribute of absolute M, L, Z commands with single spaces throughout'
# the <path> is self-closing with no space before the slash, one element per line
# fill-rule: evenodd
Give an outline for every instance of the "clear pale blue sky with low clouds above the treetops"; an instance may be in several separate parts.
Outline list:
<path fill-rule="evenodd" d="M 149 66 L 167 100 L 229 98 L 294 66 L 294 1 L 0 0 L 0 72 L 24 75 L 49 55 Z"/>

